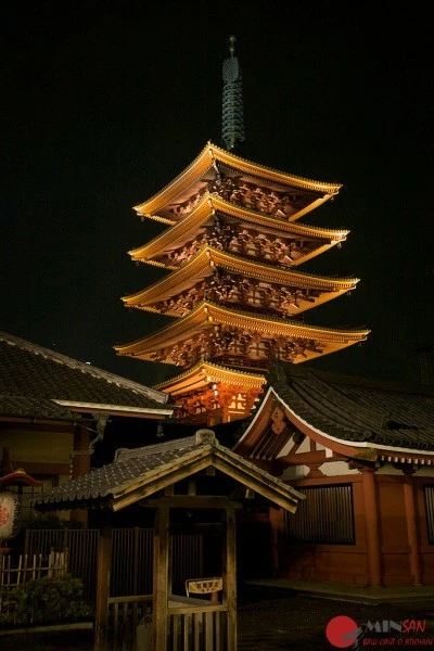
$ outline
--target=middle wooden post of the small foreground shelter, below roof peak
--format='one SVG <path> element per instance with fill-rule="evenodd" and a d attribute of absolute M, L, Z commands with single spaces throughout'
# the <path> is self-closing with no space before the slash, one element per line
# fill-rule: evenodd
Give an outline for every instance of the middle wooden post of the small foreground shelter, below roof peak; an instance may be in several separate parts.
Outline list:
<path fill-rule="evenodd" d="M 168 569 L 169 569 L 169 508 L 158 506 L 154 534 L 154 571 L 153 571 L 153 649 L 166 651 L 167 648 L 167 603 L 168 603 Z"/>

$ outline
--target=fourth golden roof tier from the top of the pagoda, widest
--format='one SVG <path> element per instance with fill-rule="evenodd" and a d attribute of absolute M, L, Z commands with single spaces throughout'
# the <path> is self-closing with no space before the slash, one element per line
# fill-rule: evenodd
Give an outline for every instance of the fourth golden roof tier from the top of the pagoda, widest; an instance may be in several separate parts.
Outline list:
<path fill-rule="evenodd" d="M 202 302 L 158 332 L 117 345 L 119 355 L 190 367 L 205 355 L 235 368 L 265 371 L 269 359 L 298 363 L 365 341 L 369 330 L 341 330 L 264 317 Z"/>

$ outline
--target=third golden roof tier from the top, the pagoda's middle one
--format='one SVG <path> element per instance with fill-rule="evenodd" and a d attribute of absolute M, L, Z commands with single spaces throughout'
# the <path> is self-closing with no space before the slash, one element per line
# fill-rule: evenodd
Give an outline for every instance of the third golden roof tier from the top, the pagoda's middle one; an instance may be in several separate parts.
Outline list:
<path fill-rule="evenodd" d="M 354 290 L 358 281 L 292 271 L 205 246 L 181 268 L 123 301 L 128 307 L 180 317 L 209 296 L 288 317 Z"/>

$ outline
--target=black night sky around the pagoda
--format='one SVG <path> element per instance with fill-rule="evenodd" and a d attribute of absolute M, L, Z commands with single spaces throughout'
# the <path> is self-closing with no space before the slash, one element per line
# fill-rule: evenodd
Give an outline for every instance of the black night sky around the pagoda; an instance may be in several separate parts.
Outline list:
<path fill-rule="evenodd" d="M 306 321 L 372 332 L 315 365 L 418 381 L 418 347 L 434 343 L 433 34 L 420 8 L 398 17 L 350 2 L 3 10 L 0 329 L 143 384 L 173 372 L 113 350 L 166 322 L 120 299 L 162 276 L 127 253 L 161 230 L 132 206 L 207 140 L 220 144 L 234 34 L 243 155 L 343 183 L 303 221 L 349 229 L 348 240 L 303 270 L 361 280 Z"/>

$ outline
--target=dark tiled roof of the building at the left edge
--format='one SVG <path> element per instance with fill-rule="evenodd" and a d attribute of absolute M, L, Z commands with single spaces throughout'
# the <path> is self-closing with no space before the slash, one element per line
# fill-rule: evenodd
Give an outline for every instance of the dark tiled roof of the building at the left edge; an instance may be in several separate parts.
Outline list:
<path fill-rule="evenodd" d="M 71 419 L 68 404 L 168 410 L 168 395 L 0 332 L 0 416 Z"/>

